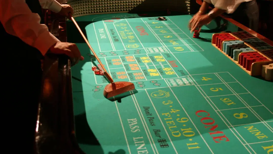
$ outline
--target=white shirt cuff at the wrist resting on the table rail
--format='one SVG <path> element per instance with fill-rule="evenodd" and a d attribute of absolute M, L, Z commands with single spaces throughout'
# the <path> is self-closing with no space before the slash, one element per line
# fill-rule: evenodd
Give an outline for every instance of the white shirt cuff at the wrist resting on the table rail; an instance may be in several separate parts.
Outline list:
<path fill-rule="evenodd" d="M 48 52 L 49 48 L 57 42 L 61 41 L 50 32 L 45 31 L 35 40 L 34 47 L 37 48 L 44 56 Z"/>

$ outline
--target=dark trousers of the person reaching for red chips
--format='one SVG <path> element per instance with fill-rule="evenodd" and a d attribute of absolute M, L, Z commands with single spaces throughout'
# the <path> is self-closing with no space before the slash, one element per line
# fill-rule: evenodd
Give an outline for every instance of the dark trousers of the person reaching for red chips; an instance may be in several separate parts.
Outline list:
<path fill-rule="evenodd" d="M 227 15 L 253 31 L 257 32 L 259 29 L 259 7 L 256 0 L 243 2 L 234 13 Z"/>

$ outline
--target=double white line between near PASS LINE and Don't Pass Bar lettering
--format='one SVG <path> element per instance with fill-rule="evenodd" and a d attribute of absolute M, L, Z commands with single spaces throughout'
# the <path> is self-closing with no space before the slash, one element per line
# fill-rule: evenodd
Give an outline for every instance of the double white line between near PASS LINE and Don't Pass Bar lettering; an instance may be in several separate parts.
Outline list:
<path fill-rule="evenodd" d="M 153 137 L 152 137 L 152 135 L 151 135 L 151 132 L 150 132 L 150 130 L 149 130 L 149 127 L 147 126 L 147 123 L 146 123 L 145 118 L 144 118 L 144 116 L 143 116 L 143 114 L 142 114 L 142 111 L 141 111 L 139 105 L 138 105 L 138 107 L 136 106 L 136 104 L 138 104 L 138 103 L 137 103 L 136 98 L 134 98 L 133 95 L 132 95 L 132 94 L 133 94 L 132 90 L 130 90 L 130 94 L 131 94 L 131 96 L 132 96 L 133 102 L 134 102 L 135 107 L 136 107 L 136 111 L 138 112 L 138 115 L 139 115 L 139 117 L 140 117 L 140 120 L 141 120 L 141 122 L 142 122 L 142 125 L 143 125 L 143 127 L 144 127 L 144 130 L 145 130 L 145 132 L 146 132 L 146 135 L 147 135 L 147 137 L 148 137 L 148 140 L 150 141 L 150 145 L 151 145 L 151 147 L 152 147 L 152 149 L 153 149 L 153 152 L 154 152 L 154 153 L 158 153 L 158 150 L 157 150 L 157 148 L 156 148 L 156 146 L 155 146 L 155 142 L 154 142 L 154 140 L 153 140 Z M 140 113 L 141 113 L 141 115 L 140 115 Z M 144 122 L 143 122 L 143 121 L 144 121 Z M 144 125 L 144 123 L 145 123 L 146 126 Z M 148 130 L 148 132 L 149 132 L 149 135 L 148 135 L 147 130 Z M 150 137 L 151 137 L 151 139 L 152 139 L 152 141 L 153 141 L 153 144 L 152 144 L 152 142 L 151 142 Z M 155 152 L 155 149 L 154 149 L 154 148 L 156 149 L 156 152 Z"/>

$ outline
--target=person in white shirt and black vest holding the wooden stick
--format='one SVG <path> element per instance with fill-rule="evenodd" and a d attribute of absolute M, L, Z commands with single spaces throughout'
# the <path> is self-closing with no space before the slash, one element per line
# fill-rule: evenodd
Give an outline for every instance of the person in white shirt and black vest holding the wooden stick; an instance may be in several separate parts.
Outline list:
<path fill-rule="evenodd" d="M 84 58 L 73 43 L 61 42 L 41 24 L 42 7 L 61 15 L 73 14 L 70 5 L 55 0 L 1 0 L 2 128 L 13 153 L 34 153 L 41 59 L 46 53 L 65 54 L 72 65 Z M 5 84 L 5 86 L 4 86 Z M 5 130 L 6 129 L 6 130 Z M 16 150 L 19 150 L 16 152 Z"/>

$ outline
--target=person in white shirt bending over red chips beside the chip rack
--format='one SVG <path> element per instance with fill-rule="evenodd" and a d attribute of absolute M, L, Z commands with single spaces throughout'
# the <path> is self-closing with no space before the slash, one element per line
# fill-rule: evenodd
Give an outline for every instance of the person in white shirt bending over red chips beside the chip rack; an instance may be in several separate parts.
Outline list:
<path fill-rule="evenodd" d="M 206 14 L 209 5 L 214 8 Z M 200 32 L 203 25 L 209 24 L 215 17 L 227 13 L 232 19 L 244 26 L 258 31 L 259 8 L 256 0 L 204 0 L 199 11 L 189 21 L 191 33 Z"/>

